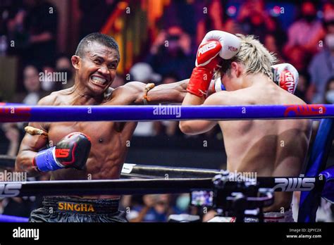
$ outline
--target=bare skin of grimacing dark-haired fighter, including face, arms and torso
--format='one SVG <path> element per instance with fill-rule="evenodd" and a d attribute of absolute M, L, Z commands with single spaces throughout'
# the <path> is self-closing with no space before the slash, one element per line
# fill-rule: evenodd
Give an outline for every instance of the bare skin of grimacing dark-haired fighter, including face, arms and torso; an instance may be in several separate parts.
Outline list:
<path fill-rule="evenodd" d="M 54 92 L 39 101 L 39 106 L 115 106 L 142 104 L 145 85 L 142 82 L 128 82 L 113 90 L 111 96 L 104 97 L 116 76 L 118 54 L 97 42 L 87 48 L 84 57 L 73 56 L 76 69 L 75 85 L 69 89 Z M 96 84 L 92 76 L 106 79 L 105 84 Z M 183 101 L 187 81 L 162 84 L 148 93 L 150 103 Z M 86 168 L 71 168 L 50 172 L 51 180 L 103 180 L 118 179 L 128 151 L 129 141 L 137 122 L 31 122 L 32 127 L 48 133 L 43 135 L 25 134 L 16 160 L 16 170 L 26 171 L 29 175 L 38 175 L 32 167 L 33 158 L 46 145 L 55 145 L 71 132 L 87 134 L 92 148 Z M 92 199 L 112 199 L 119 196 L 82 196 Z"/>

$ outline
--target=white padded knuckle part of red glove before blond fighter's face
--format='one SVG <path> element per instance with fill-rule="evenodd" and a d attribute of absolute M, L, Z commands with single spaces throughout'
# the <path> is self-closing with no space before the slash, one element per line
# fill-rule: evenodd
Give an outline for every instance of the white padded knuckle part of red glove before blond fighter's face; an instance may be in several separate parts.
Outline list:
<path fill-rule="evenodd" d="M 241 39 L 239 37 L 219 30 L 206 33 L 201 45 L 214 40 L 221 43 L 222 48 L 219 52 L 219 56 L 225 60 L 233 58 L 240 50 Z"/>

